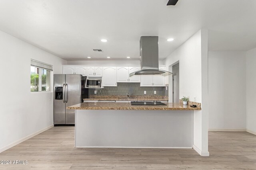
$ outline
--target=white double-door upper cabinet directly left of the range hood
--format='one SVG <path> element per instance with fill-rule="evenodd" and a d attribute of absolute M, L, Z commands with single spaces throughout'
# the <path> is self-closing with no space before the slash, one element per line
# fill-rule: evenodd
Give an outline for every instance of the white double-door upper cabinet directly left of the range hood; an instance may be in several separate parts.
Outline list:
<path fill-rule="evenodd" d="M 117 82 L 140 82 L 140 76 L 132 76 L 129 74 L 140 70 L 138 66 L 121 66 L 117 67 Z"/>

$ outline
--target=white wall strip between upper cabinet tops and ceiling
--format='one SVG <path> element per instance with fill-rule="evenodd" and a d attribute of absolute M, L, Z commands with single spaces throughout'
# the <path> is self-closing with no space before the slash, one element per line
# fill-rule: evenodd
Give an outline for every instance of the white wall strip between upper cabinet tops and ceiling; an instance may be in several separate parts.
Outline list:
<path fill-rule="evenodd" d="M 86 60 L 86 61 L 67 61 L 70 65 L 140 65 L 139 60 Z M 164 65 L 164 61 L 160 60 L 159 65 Z"/>

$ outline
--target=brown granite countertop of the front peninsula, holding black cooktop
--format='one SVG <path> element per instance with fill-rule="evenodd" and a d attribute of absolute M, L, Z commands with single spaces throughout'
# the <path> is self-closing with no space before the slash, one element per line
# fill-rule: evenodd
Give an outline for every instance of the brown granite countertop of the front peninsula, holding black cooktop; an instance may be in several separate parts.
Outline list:
<path fill-rule="evenodd" d="M 80 110 L 201 110 L 201 107 L 184 106 L 179 103 L 166 103 L 167 105 L 158 106 L 135 106 L 130 102 L 116 103 L 116 102 L 84 102 L 69 106 L 67 109 Z"/>

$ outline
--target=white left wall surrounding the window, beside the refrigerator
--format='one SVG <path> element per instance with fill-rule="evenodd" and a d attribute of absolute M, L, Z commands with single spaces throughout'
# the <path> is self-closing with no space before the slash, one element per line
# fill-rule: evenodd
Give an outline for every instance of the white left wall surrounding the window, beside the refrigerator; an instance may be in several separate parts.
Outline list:
<path fill-rule="evenodd" d="M 30 59 L 62 74 L 66 61 L 0 31 L 0 152 L 53 125 L 53 93 L 30 93 Z M 52 79 L 53 80 L 53 79 Z"/>

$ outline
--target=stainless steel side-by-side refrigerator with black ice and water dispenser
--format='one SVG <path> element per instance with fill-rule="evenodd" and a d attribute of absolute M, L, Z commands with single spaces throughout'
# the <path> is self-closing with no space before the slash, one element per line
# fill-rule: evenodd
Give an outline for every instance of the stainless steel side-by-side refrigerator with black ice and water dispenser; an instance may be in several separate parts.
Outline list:
<path fill-rule="evenodd" d="M 75 110 L 68 106 L 81 102 L 80 74 L 54 74 L 54 125 L 75 124 Z"/>

